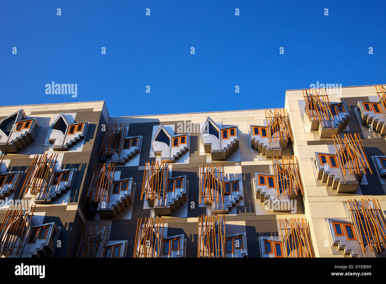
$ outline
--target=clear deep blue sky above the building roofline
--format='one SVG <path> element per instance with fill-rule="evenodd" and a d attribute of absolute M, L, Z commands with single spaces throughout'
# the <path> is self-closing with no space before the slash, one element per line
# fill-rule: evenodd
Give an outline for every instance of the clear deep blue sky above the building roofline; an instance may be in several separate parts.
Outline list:
<path fill-rule="evenodd" d="M 283 107 L 286 89 L 317 81 L 386 83 L 383 1 L 69 2 L 0 2 L 1 105 L 228 111 Z M 52 81 L 78 84 L 77 97 L 47 95 Z"/>

